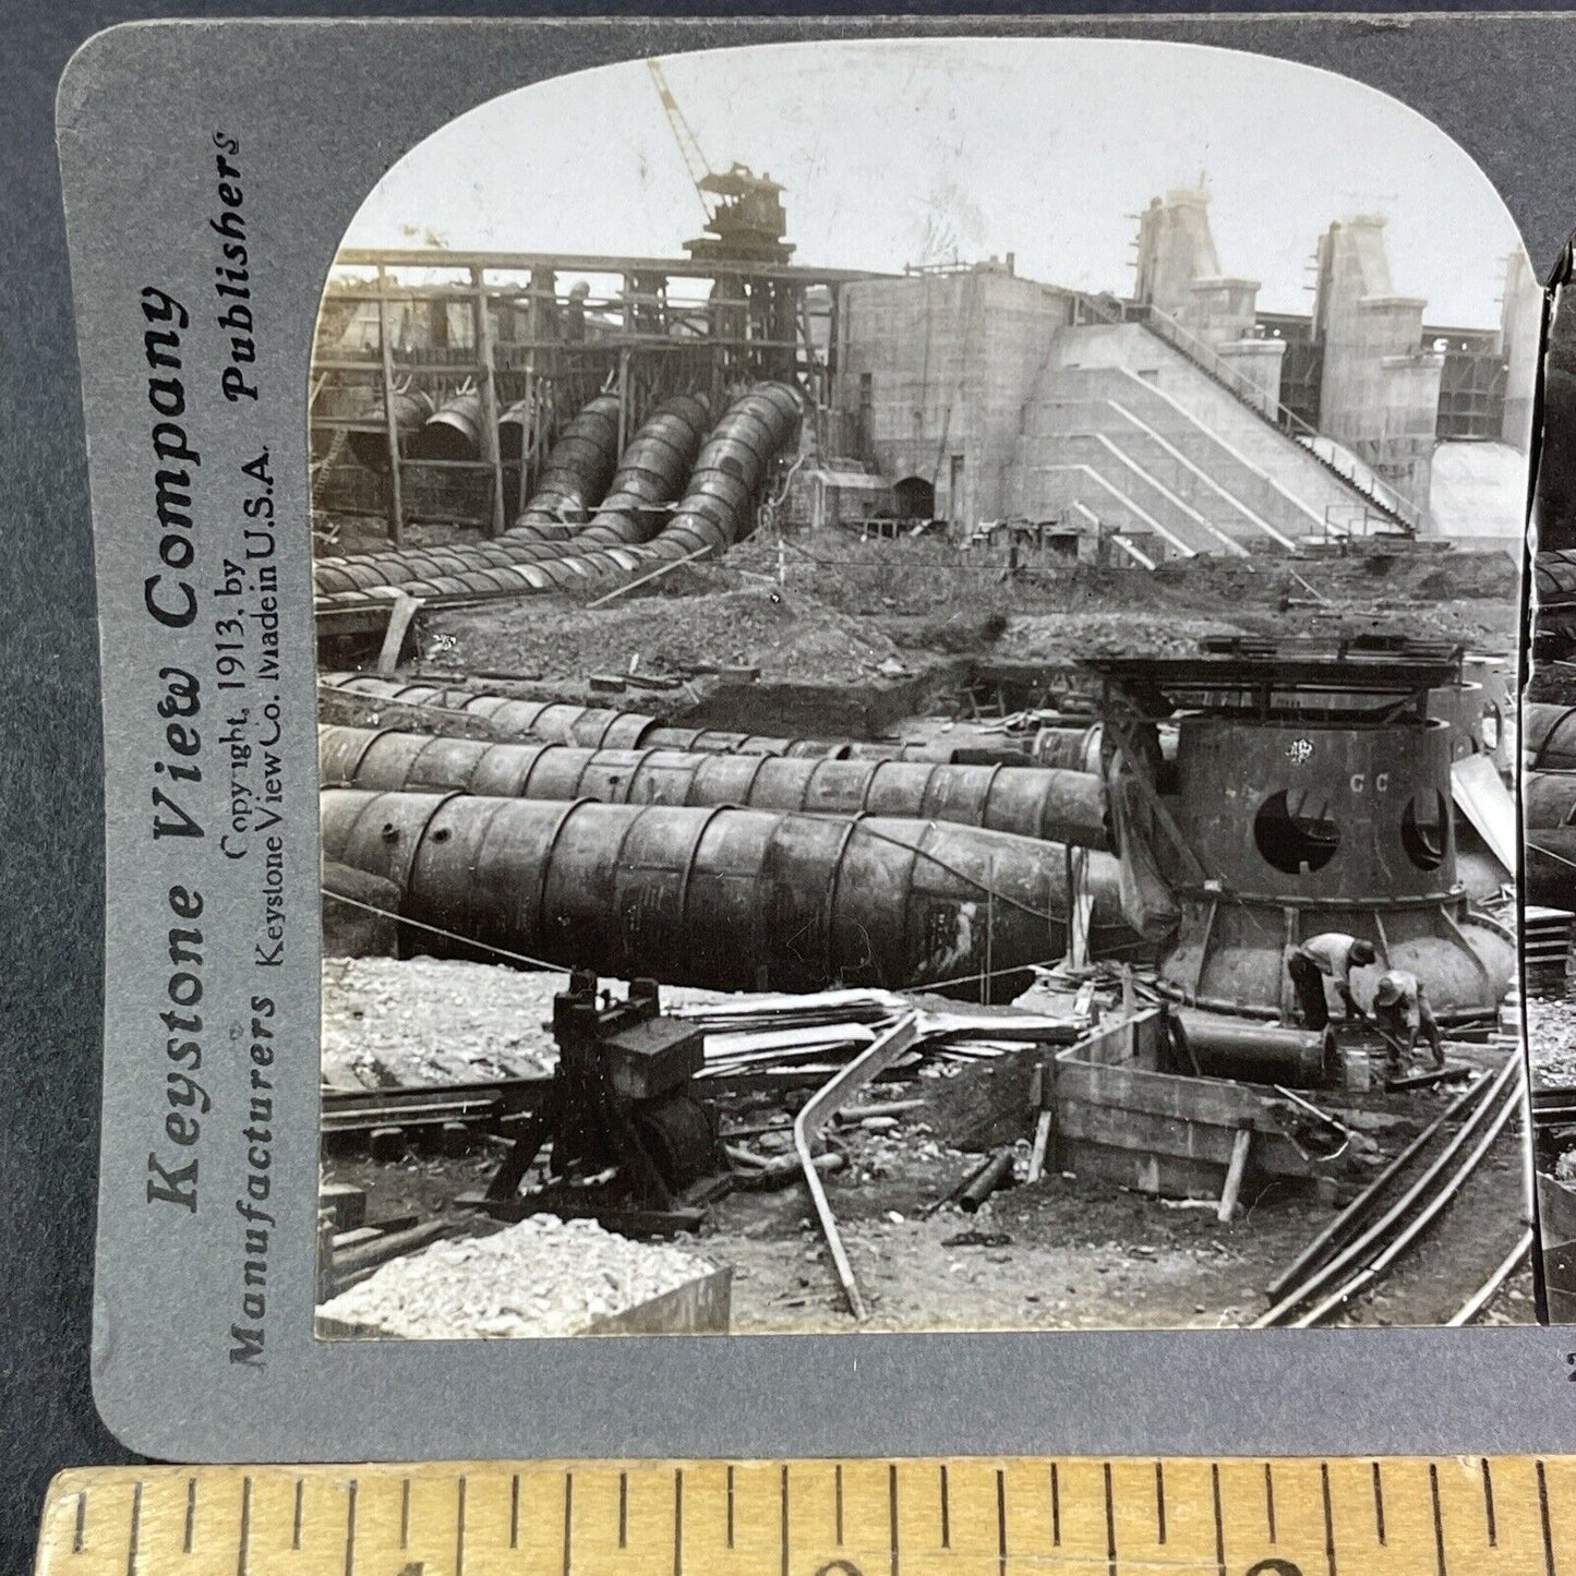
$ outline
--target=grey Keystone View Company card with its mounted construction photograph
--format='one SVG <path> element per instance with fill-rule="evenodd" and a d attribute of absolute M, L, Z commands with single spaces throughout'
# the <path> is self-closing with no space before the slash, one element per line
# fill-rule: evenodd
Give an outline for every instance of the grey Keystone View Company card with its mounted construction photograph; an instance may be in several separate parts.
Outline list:
<path fill-rule="evenodd" d="M 84 46 L 110 1426 L 1568 1442 L 1515 777 L 1571 54 Z"/>

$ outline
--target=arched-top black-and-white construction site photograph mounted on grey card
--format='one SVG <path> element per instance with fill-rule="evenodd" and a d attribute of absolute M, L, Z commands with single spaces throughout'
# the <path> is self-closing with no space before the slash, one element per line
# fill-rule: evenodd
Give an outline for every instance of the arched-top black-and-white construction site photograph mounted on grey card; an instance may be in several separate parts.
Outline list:
<path fill-rule="evenodd" d="M 1229 50 L 407 151 L 309 389 L 317 1333 L 1533 1322 L 1541 318 L 1444 132 Z"/>

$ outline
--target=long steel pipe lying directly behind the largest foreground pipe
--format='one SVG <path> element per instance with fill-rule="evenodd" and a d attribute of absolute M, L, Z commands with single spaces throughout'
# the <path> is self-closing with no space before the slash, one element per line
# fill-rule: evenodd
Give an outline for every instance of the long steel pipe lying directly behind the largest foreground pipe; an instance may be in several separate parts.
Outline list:
<path fill-rule="evenodd" d="M 318 730 L 318 780 L 389 791 L 457 788 L 514 799 L 901 816 L 1083 848 L 1111 846 L 1100 779 L 1040 768 L 588 750 L 329 727 Z"/>

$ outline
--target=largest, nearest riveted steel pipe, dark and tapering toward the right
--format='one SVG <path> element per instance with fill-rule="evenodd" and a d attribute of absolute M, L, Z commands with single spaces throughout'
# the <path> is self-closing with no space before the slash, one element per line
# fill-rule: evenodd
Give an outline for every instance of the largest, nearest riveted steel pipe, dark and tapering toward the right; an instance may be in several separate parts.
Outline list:
<path fill-rule="evenodd" d="M 413 950 L 468 942 L 708 990 L 941 988 L 1010 999 L 1065 950 L 1065 849 L 883 816 L 322 794 L 326 859 L 392 881 Z M 1091 854 L 1094 944 L 1132 942 Z M 452 938 L 452 939 L 451 939 Z"/>

